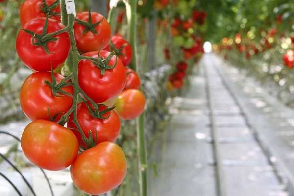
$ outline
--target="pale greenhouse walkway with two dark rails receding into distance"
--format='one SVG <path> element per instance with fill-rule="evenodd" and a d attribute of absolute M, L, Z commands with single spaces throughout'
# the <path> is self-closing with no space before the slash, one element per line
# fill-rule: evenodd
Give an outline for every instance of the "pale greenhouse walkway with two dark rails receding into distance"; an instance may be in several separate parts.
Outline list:
<path fill-rule="evenodd" d="M 205 54 L 174 114 L 150 196 L 292 196 L 294 114 Z"/>

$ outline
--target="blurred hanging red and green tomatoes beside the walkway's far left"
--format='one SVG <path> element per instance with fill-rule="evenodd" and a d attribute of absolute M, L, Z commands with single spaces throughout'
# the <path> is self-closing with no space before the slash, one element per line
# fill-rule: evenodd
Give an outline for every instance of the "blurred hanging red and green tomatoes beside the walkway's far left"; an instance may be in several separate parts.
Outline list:
<path fill-rule="evenodd" d="M 155 1 L 155 8 L 161 10 L 171 4 L 170 1 Z M 202 54 L 203 41 L 199 28 L 205 24 L 206 12 L 192 9 L 195 2 L 187 0 L 173 1 L 175 13 L 172 17 L 170 34 L 172 35 L 172 46 L 164 48 L 165 59 L 173 64 L 171 53 L 179 53 L 181 59 L 176 59 L 176 65 L 172 68 L 172 73 L 168 76 L 166 83 L 167 90 L 181 89 L 184 86 L 184 79 L 187 75 L 188 61 L 197 62 Z M 162 14 L 164 15 L 164 14 Z M 159 22 L 162 29 L 167 25 L 168 20 L 163 19 Z"/>

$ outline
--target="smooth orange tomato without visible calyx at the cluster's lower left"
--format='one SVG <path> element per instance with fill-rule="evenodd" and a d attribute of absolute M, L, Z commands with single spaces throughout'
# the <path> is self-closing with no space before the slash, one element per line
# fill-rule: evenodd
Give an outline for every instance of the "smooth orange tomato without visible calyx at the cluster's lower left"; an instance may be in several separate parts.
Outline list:
<path fill-rule="evenodd" d="M 79 148 L 72 131 L 46 120 L 35 120 L 25 127 L 21 146 L 32 163 L 46 170 L 67 168 Z"/>

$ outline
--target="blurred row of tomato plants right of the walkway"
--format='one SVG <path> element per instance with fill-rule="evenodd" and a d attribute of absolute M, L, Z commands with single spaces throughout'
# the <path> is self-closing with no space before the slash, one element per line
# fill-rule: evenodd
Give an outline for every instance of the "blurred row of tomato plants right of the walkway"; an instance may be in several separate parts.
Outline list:
<path fill-rule="evenodd" d="M 263 11 L 256 20 L 245 15 L 246 5 L 234 6 L 239 29 L 220 37 L 214 50 L 224 59 L 256 77 L 270 93 L 294 106 L 294 7 L 288 1 L 273 0 L 252 7 Z M 230 21 L 232 22 L 232 21 Z M 228 25 L 228 24 L 226 24 Z"/>

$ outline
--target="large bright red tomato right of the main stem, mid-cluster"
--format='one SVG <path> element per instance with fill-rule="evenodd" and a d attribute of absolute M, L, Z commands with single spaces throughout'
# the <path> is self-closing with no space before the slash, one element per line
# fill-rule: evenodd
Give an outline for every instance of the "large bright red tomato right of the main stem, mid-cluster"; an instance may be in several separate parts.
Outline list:
<path fill-rule="evenodd" d="M 100 56 L 103 58 L 107 58 L 109 54 L 108 51 L 100 51 Z M 98 51 L 88 52 L 84 55 L 98 58 Z M 113 66 L 115 62 L 116 57 L 113 56 L 109 62 L 109 66 Z M 78 80 L 80 87 L 90 98 L 96 103 L 103 103 L 123 91 L 126 71 L 119 58 L 117 58 L 115 68 L 106 70 L 104 75 L 101 75 L 100 69 L 91 61 L 82 60 L 79 62 Z"/>

